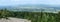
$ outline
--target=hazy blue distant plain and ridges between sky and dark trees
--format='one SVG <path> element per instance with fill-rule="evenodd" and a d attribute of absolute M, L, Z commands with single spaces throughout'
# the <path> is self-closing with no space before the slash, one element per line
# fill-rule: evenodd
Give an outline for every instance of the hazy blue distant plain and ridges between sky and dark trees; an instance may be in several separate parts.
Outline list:
<path fill-rule="evenodd" d="M 0 9 L 7 8 L 8 10 L 13 11 L 41 11 L 41 9 L 44 9 L 44 11 L 58 11 L 60 10 L 60 6 L 52 6 L 52 5 L 15 5 L 15 6 L 0 6 Z"/>

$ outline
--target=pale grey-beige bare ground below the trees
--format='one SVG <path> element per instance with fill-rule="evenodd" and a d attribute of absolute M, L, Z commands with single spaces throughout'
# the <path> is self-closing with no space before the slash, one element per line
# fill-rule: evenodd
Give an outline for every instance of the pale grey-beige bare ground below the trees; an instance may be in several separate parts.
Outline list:
<path fill-rule="evenodd" d="M 27 19 L 19 19 L 19 18 L 12 18 L 10 17 L 9 19 L 0 19 L 0 22 L 31 22 L 30 20 Z"/>

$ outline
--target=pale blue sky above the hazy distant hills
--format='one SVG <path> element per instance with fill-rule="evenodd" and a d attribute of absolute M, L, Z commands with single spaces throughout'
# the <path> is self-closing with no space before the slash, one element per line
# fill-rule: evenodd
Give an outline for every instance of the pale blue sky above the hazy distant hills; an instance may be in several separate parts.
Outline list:
<path fill-rule="evenodd" d="M 60 5 L 60 0 L 0 0 L 2 5 L 49 4 Z"/>

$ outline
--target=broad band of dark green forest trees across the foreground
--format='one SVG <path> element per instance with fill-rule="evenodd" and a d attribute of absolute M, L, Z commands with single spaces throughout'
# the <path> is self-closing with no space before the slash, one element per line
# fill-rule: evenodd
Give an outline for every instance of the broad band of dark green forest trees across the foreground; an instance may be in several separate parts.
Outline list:
<path fill-rule="evenodd" d="M 10 11 L 7 9 L 0 10 L 0 18 L 16 17 L 29 19 L 31 22 L 60 22 L 60 12 L 27 12 L 27 11 Z"/>

